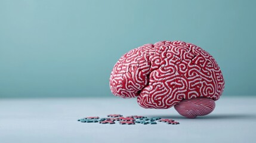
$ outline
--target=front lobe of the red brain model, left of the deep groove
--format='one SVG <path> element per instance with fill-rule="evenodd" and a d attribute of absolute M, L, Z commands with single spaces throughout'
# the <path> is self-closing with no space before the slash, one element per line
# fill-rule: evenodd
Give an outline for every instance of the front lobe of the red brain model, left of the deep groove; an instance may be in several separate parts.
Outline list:
<path fill-rule="evenodd" d="M 137 97 L 149 84 L 149 50 L 153 45 L 143 45 L 124 54 L 113 67 L 110 89 L 116 96 Z"/>

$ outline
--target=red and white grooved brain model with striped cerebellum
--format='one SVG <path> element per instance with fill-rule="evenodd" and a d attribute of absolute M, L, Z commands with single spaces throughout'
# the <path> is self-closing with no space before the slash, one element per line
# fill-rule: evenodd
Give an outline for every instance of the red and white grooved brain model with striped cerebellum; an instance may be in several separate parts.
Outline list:
<path fill-rule="evenodd" d="M 182 41 L 146 44 L 124 54 L 113 67 L 110 90 L 118 97 L 137 97 L 144 108 L 174 108 L 188 118 L 214 110 L 224 79 L 214 58 Z"/>

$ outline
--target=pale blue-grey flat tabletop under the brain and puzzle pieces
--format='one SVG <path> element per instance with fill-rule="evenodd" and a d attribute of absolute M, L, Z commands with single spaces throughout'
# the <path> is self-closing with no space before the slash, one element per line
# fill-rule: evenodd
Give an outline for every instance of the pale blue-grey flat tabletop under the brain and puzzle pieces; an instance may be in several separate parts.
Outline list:
<path fill-rule="evenodd" d="M 256 98 L 221 97 L 208 116 L 186 119 L 174 108 L 144 109 L 136 99 L 0 99 L 0 142 L 256 142 Z M 82 117 L 159 116 L 180 125 L 102 125 Z"/>

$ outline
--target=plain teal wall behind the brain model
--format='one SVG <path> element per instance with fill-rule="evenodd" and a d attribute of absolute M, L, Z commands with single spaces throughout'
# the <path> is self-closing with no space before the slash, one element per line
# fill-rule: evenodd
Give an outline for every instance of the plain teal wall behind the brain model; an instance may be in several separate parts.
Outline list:
<path fill-rule="evenodd" d="M 0 97 L 112 97 L 125 52 L 180 40 L 215 57 L 223 96 L 255 95 L 255 1 L 0 1 Z"/>

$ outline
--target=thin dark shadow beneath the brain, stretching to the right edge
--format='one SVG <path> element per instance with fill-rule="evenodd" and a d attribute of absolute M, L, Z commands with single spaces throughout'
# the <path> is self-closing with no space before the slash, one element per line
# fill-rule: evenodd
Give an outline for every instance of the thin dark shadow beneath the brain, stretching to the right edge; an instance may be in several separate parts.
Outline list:
<path fill-rule="evenodd" d="M 147 117 L 161 117 L 162 119 L 188 119 L 181 115 L 149 115 Z M 211 114 L 206 116 L 198 116 L 195 118 L 196 120 L 211 120 L 211 119 L 222 119 L 222 120 L 251 120 L 256 119 L 256 114 Z M 195 120 L 195 119 L 188 119 L 188 120 Z"/>

